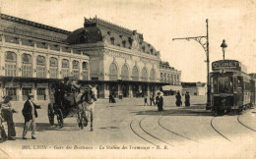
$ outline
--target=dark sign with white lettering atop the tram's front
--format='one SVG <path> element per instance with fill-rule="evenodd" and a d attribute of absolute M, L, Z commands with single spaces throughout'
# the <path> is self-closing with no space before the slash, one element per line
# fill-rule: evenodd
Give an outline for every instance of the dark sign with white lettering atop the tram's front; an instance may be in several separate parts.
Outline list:
<path fill-rule="evenodd" d="M 220 60 L 212 63 L 213 71 L 233 70 L 241 71 L 241 63 L 236 60 Z"/>

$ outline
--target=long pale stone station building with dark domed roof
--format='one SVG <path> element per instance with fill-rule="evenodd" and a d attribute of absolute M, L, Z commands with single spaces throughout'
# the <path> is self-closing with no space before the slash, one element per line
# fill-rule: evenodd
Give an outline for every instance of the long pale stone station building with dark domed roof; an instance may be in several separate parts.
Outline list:
<path fill-rule="evenodd" d="M 96 83 L 98 96 L 149 95 L 180 85 L 181 72 L 161 67 L 160 52 L 136 30 L 98 18 L 74 31 L 0 15 L 0 95 L 47 100 L 49 83 L 76 77 Z M 173 77 L 173 78 L 172 78 Z"/>

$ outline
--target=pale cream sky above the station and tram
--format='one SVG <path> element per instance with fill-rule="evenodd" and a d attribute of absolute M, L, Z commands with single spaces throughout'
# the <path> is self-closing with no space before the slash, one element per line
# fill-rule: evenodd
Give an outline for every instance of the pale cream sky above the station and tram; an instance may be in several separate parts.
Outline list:
<path fill-rule="evenodd" d="M 172 38 L 205 36 L 208 19 L 210 67 L 223 59 L 225 39 L 225 59 L 256 73 L 256 0 L 0 0 L 0 7 L 3 14 L 69 31 L 95 16 L 136 29 L 190 82 L 206 82 L 206 53 L 193 39 Z"/>

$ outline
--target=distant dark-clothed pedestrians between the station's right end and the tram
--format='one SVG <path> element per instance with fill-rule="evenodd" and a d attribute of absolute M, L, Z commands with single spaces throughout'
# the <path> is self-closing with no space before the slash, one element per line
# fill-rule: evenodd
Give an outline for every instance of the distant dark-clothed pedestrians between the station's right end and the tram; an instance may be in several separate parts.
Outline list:
<path fill-rule="evenodd" d="M 144 106 L 146 105 L 158 105 L 158 110 L 159 111 L 163 111 L 162 109 L 162 106 L 163 106 L 163 97 L 162 97 L 163 93 L 162 92 L 158 92 L 157 93 L 157 96 L 155 97 L 155 95 L 153 93 L 151 93 L 150 95 L 150 104 L 148 103 L 148 96 L 145 95 L 144 96 Z M 180 95 L 180 92 L 178 91 L 177 94 L 176 94 L 176 106 L 179 107 L 179 106 L 182 106 L 182 100 L 181 100 L 181 95 Z M 155 99 L 156 99 L 156 102 L 155 102 Z M 185 93 L 185 106 L 189 107 L 190 106 L 190 95 L 189 95 L 189 92 L 187 91 Z"/>

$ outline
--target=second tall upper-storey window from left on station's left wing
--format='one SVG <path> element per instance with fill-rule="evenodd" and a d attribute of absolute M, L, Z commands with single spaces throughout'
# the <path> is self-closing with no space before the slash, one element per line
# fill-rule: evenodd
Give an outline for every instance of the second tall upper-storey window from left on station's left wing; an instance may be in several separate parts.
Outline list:
<path fill-rule="evenodd" d="M 32 78 L 32 55 L 22 55 L 22 77 Z"/>

